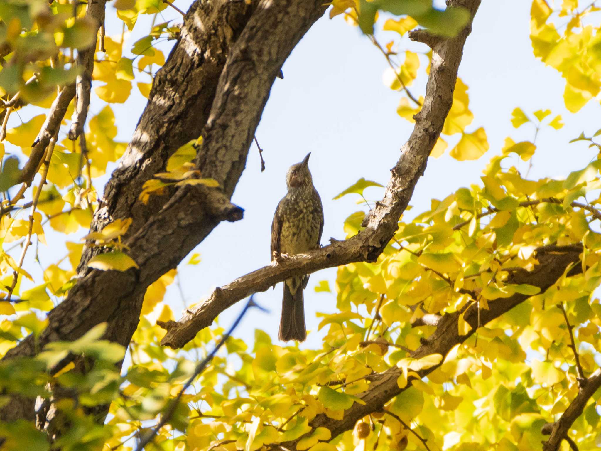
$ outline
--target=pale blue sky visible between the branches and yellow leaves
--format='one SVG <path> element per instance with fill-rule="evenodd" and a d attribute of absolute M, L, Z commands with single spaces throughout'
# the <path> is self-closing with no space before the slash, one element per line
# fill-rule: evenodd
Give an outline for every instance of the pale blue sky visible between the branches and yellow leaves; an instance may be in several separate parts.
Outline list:
<path fill-rule="evenodd" d="M 176 0 L 175 4 L 187 10 L 189 2 Z M 511 0 L 505 2 L 484 1 L 477 13 L 472 34 L 465 46 L 459 76 L 468 85 L 474 121 L 468 131 L 480 126 L 486 130 L 490 150 L 482 158 L 472 162 L 459 162 L 444 155 L 430 158 L 425 176 L 415 189 L 411 201 L 413 209 L 407 216 L 428 209 L 431 198 L 444 198 L 460 186 L 480 183 L 481 171 L 489 159 L 501 152 L 506 137 L 514 141 L 531 140 L 534 127 L 525 124 L 514 129 L 510 123 L 511 111 L 519 106 L 531 115 L 538 109 L 551 109 L 561 114 L 566 126 L 561 130 L 546 127 L 538 133 L 537 152 L 529 173 L 531 178 L 565 177 L 570 171 L 584 167 L 596 155 L 585 144 L 568 144 L 582 131 L 591 135 L 601 125 L 598 100 L 591 100 L 578 114 L 569 113 L 563 103 L 564 82 L 558 72 L 535 60 L 529 40 L 530 2 Z M 171 8 L 162 12 L 158 22 L 181 16 Z M 120 33 L 120 25 L 112 22 L 114 10 L 108 7 L 108 34 Z M 150 29 L 150 17 L 144 17 L 128 35 L 124 48 Z M 381 29 L 381 23 L 376 29 Z M 377 32 L 381 43 L 397 37 L 394 32 Z M 165 52 L 173 41 L 161 44 Z M 423 44 L 401 41 L 400 51 L 412 49 L 426 52 Z M 127 56 L 124 54 L 124 56 Z M 423 72 L 426 57 L 420 59 L 419 82 L 410 88 L 415 96 L 423 95 L 426 76 Z M 245 209 L 242 221 L 220 224 L 194 252 L 201 254 L 202 262 L 191 266 L 180 265 L 180 280 L 184 302 L 176 284 L 169 287 L 166 301 L 179 317 L 184 303 L 190 305 L 209 295 L 212 288 L 227 284 L 249 271 L 269 263 L 270 225 L 279 199 L 285 194 L 284 176 L 287 168 L 311 152 L 310 169 L 319 191 L 325 211 L 325 227 L 322 244 L 333 236 L 344 238 L 343 222 L 351 213 L 363 206 L 356 204 L 356 197 L 332 198 L 361 177 L 375 180 L 383 185 L 389 177 L 399 150 L 412 130 L 412 124 L 396 113 L 401 93 L 391 91 L 382 82 L 387 63 L 382 54 L 370 43 L 359 29 L 347 25 L 338 16 L 329 20 L 326 15 L 305 35 L 283 67 L 284 79 L 276 79 L 269 102 L 257 130 L 257 138 L 264 149 L 266 171 L 261 173 L 257 148 L 249 152 L 246 169 L 240 178 L 233 202 Z M 156 69 L 156 67 L 155 67 Z M 141 81 L 147 81 L 141 78 Z M 118 139 L 129 141 L 138 117 L 145 106 L 145 99 L 136 88 L 127 106 L 113 105 L 117 117 Z M 91 115 L 99 112 L 104 103 L 93 98 Z M 31 115 L 38 112 L 31 112 Z M 28 114 L 23 112 L 23 120 Z M 20 120 L 14 115 L 10 126 Z M 457 138 L 451 138 L 450 147 Z M 7 147 L 7 150 L 8 147 Z M 448 150 L 447 150 L 448 153 Z M 527 164 L 512 159 L 508 164 L 519 164 L 525 173 Z M 110 173 L 110 171 L 109 171 Z M 99 179 L 102 183 L 108 179 Z M 369 188 L 365 195 L 377 200 L 382 189 Z M 40 247 L 44 265 L 64 256 L 64 235 L 47 231 L 49 247 Z M 70 241 L 78 241 L 84 231 L 70 235 Z M 53 239 L 56 238 L 56 239 Z M 30 252 L 26 268 L 40 283 Z M 320 280 L 329 280 L 334 288 L 335 269 L 312 275 L 305 292 L 307 343 L 302 346 L 319 346 L 321 334 L 317 332 L 319 319 L 316 311 L 336 310 L 335 295 L 316 293 L 313 290 Z M 275 290 L 258 293 L 257 302 L 269 308 L 271 313 L 251 311 L 235 335 L 251 342 L 255 327 L 267 331 L 276 342 L 281 303 L 281 285 Z M 220 324 L 227 328 L 242 309 L 242 303 L 221 315 Z"/>

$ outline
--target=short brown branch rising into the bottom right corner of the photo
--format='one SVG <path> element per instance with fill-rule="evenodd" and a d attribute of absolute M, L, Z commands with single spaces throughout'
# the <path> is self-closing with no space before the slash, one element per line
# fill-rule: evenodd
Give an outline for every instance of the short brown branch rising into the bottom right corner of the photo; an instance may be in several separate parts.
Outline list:
<path fill-rule="evenodd" d="M 550 432 L 549 440 L 543 442 L 543 451 L 557 451 L 560 449 L 562 440 L 569 440 L 567 435 L 570 427 L 576 419 L 582 415 L 582 411 L 587 405 L 588 400 L 601 387 L 601 369 L 597 369 L 590 378 L 586 379 L 584 384 L 580 385 L 580 390 L 561 418 L 555 423 L 547 423 L 543 428 Z M 551 431 L 549 431 L 551 429 Z M 571 444 L 570 444 L 571 446 Z"/>

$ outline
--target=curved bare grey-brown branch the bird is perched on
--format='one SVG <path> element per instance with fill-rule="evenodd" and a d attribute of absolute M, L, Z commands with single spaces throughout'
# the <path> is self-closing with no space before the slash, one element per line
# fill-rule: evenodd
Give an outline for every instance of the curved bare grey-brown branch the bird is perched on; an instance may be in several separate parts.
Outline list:
<path fill-rule="evenodd" d="M 480 0 L 449 2 L 450 7 L 468 8 L 472 18 L 479 5 Z M 434 46 L 424 105 L 415 115 L 413 132 L 401 148 L 400 159 L 391 170 L 392 176 L 386 186 L 384 198 L 376 203 L 376 207 L 364 219 L 367 226 L 365 230 L 345 241 L 334 242 L 276 266 L 266 266 L 224 287 L 218 287 L 203 304 L 186 311 L 180 321 L 163 324 L 168 330 L 162 340 L 163 345 L 180 348 L 194 338 L 198 331 L 212 324 L 221 311 L 292 275 L 310 274 L 319 269 L 352 262 L 373 262 L 377 259 L 398 229 L 398 219 L 409 204 L 419 177 L 426 170 L 428 156 L 453 104 L 463 45 L 470 31 L 471 22 L 456 37 L 439 40 Z"/>

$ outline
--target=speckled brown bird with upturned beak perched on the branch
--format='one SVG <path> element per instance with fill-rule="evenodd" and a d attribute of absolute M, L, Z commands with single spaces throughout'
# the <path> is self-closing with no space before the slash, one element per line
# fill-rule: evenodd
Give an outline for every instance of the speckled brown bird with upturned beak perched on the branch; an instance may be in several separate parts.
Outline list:
<path fill-rule="evenodd" d="M 320 247 L 323 232 L 322 199 L 313 185 L 309 157 L 286 173 L 288 192 L 279 201 L 271 225 L 271 259 L 279 260 Z M 283 342 L 307 339 L 303 290 L 309 275 L 284 281 L 278 338 Z"/>

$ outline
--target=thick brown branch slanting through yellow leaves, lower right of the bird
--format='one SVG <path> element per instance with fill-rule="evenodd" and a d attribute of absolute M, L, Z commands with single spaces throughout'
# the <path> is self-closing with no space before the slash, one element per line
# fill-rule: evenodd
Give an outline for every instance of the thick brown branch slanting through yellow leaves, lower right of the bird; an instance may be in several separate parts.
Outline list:
<path fill-rule="evenodd" d="M 564 274 L 564 271 L 566 271 L 570 265 L 580 262 L 581 252 L 581 245 L 556 247 L 554 250 L 539 248 L 537 251 L 537 260 L 540 264 L 531 272 L 522 270 L 514 273 L 507 283 L 527 283 L 540 287 L 541 292 L 544 292 Z M 581 271 L 582 266 L 575 265 L 571 272 L 569 272 L 569 275 L 575 275 Z M 525 301 L 528 297 L 529 296 L 526 295 L 516 294 L 510 298 L 489 302 L 490 310 L 480 310 L 481 324 L 486 325 L 493 319 L 499 318 L 499 316 Z M 466 335 L 459 334 L 459 314 L 459 311 L 445 314 L 439 321 L 434 333 L 426 340 L 423 340 L 422 345 L 411 352 L 410 357 L 421 358 L 430 354 L 441 354 L 445 356 L 454 346 L 465 342 L 465 340 L 471 337 L 478 328 L 477 305 L 475 303 L 472 304 L 463 315 L 465 321 L 472 327 Z M 418 371 L 418 374 L 421 378 L 424 378 L 436 368 L 438 368 L 438 366 L 421 370 Z M 365 405 L 354 403 L 350 409 L 344 411 L 342 420 L 333 420 L 325 414 L 320 414 L 316 416 L 309 425 L 313 430 L 316 428 L 329 429 L 332 432 L 332 438 L 344 431 L 352 429 L 359 419 L 372 412 L 382 410 L 386 402 L 410 387 L 411 384 L 409 382 L 407 387 L 398 388 L 397 379 L 398 376 L 401 375 L 401 372 L 402 370 L 394 367 L 381 373 L 380 377 L 373 378 L 369 390 L 359 396 L 365 402 Z M 310 432 L 308 434 L 310 434 Z M 287 443 L 281 443 L 280 445 L 285 449 L 295 450 L 296 443 L 298 443 L 301 438 Z"/>

